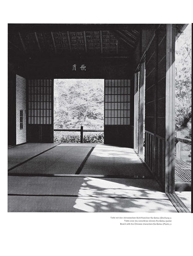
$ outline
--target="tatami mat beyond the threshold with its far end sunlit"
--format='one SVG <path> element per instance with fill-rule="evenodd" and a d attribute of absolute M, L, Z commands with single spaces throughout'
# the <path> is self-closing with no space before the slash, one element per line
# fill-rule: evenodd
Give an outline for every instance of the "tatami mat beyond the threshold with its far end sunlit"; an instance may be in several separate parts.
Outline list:
<path fill-rule="evenodd" d="M 150 175 L 133 149 L 109 146 L 95 147 L 81 174 Z"/>

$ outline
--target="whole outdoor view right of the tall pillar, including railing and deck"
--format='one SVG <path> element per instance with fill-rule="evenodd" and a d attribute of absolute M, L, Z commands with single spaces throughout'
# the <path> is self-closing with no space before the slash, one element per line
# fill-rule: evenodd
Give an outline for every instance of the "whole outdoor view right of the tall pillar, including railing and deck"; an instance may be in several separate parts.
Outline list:
<path fill-rule="evenodd" d="M 191 210 L 192 29 L 175 43 L 175 191 Z"/>

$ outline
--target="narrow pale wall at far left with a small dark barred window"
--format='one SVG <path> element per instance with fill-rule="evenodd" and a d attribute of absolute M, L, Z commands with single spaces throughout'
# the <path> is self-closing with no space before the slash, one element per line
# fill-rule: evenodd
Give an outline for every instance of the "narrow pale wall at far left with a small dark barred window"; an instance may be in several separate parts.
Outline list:
<path fill-rule="evenodd" d="M 23 129 L 20 130 L 20 110 L 23 110 Z M 26 79 L 16 75 L 16 145 L 26 142 Z"/>

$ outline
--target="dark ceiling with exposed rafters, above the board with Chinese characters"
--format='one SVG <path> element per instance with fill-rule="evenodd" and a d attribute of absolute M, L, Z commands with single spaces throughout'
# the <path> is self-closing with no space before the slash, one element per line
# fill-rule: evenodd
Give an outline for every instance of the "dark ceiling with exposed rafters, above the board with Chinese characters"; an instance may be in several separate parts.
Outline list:
<path fill-rule="evenodd" d="M 8 56 L 130 57 L 142 29 L 154 27 L 155 24 L 8 24 Z"/>

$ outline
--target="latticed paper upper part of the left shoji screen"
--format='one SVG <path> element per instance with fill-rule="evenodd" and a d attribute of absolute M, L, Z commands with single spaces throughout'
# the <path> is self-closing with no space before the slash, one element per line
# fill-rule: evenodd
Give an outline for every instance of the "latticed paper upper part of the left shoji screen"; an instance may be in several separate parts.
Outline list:
<path fill-rule="evenodd" d="M 28 80 L 28 124 L 51 125 L 52 80 Z"/>

